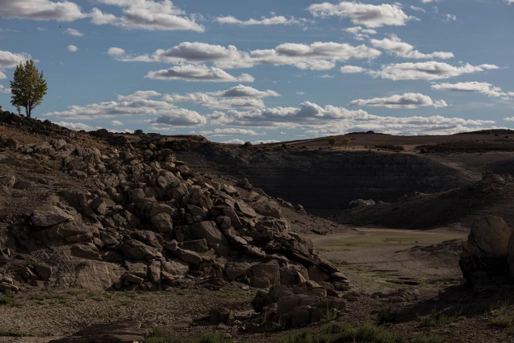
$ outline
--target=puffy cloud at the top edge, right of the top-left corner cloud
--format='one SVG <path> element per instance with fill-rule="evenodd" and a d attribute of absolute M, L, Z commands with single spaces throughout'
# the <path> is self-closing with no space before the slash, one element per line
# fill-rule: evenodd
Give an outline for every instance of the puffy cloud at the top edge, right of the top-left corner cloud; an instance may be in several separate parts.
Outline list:
<path fill-rule="evenodd" d="M 124 29 L 142 30 L 191 30 L 204 32 L 205 27 L 195 21 L 195 16 L 186 16 L 186 13 L 175 7 L 169 0 L 97 0 L 104 5 L 121 7 L 122 16 L 103 13 L 94 8 L 91 13 L 91 22 L 96 25 L 111 24 Z"/>

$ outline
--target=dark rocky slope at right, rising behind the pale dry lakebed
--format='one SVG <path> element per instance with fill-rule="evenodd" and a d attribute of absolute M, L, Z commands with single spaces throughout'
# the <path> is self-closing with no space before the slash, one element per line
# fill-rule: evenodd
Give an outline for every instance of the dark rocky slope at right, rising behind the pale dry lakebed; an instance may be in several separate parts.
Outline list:
<path fill-rule="evenodd" d="M 339 223 L 395 228 L 428 228 L 463 223 L 470 226 L 484 215 L 501 216 L 514 226 L 514 179 L 510 174 L 485 173 L 482 180 L 451 191 L 416 193 L 393 203 L 356 202 L 335 216 Z"/>

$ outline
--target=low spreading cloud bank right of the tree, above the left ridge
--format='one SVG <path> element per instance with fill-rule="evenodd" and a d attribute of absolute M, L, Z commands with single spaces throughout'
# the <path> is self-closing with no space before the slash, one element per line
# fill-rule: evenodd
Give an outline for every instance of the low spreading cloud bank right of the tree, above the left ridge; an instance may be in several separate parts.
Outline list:
<path fill-rule="evenodd" d="M 162 100 L 150 99 L 157 92 L 141 91 L 128 96 L 118 96 L 118 101 L 105 101 L 85 106 L 71 105 L 67 111 L 49 112 L 44 116 L 91 120 L 97 118 L 119 118 L 133 115 L 154 115 L 150 123 L 162 123 L 164 126 L 194 126 L 206 123 L 204 116 L 195 111 L 181 109 Z"/>

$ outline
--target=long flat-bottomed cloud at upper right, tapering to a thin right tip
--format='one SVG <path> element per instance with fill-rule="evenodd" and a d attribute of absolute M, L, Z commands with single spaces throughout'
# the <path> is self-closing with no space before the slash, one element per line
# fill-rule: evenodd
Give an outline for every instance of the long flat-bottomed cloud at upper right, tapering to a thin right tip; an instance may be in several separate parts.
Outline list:
<path fill-rule="evenodd" d="M 498 69 L 493 64 L 481 64 L 478 66 L 469 63 L 455 67 L 444 62 L 418 62 L 418 63 L 393 63 L 382 66 L 381 70 L 368 71 L 374 77 L 389 80 L 438 80 L 448 79 L 463 74 L 476 73 L 487 69 Z"/>

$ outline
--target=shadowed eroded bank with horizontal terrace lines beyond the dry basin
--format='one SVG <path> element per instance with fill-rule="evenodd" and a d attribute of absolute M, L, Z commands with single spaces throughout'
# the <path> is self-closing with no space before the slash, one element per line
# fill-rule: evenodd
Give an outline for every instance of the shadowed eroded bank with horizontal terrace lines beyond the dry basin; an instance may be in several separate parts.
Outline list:
<path fill-rule="evenodd" d="M 461 187 L 470 177 L 424 156 L 368 151 L 265 151 L 199 147 L 179 152 L 192 167 L 247 177 L 255 187 L 318 215 L 339 213 L 357 198 L 393 202 L 413 192 Z"/>

